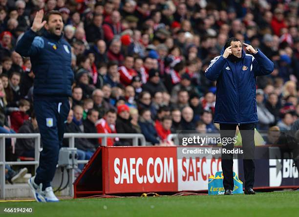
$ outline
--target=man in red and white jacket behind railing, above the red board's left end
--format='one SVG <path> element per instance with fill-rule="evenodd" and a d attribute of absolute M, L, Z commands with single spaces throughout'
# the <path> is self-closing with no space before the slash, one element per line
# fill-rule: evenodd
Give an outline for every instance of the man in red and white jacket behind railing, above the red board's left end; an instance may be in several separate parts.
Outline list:
<path fill-rule="evenodd" d="M 116 133 L 115 122 L 116 122 L 116 111 L 109 109 L 106 111 L 103 118 L 98 120 L 95 125 L 98 133 Z M 118 138 L 107 138 L 107 146 L 113 146 L 115 140 Z M 99 138 L 99 144 L 102 144 L 102 138 Z"/>

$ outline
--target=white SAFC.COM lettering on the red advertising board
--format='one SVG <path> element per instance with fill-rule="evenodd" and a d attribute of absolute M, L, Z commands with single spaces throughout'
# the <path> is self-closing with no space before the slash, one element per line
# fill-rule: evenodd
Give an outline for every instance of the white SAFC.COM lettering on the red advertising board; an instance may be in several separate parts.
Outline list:
<path fill-rule="evenodd" d="M 142 173 L 143 172 L 143 173 Z M 157 157 L 144 162 L 141 157 L 114 159 L 114 183 L 173 183 L 174 167 L 173 158 Z"/>

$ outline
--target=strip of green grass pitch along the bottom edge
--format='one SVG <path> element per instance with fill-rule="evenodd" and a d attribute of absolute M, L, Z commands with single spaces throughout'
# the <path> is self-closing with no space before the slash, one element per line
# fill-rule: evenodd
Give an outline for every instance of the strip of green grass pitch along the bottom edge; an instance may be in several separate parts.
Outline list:
<path fill-rule="evenodd" d="M 298 217 L 299 191 L 232 196 L 69 199 L 59 203 L 1 202 L 0 207 L 4 206 L 32 207 L 34 213 L 26 216 L 36 217 Z"/>

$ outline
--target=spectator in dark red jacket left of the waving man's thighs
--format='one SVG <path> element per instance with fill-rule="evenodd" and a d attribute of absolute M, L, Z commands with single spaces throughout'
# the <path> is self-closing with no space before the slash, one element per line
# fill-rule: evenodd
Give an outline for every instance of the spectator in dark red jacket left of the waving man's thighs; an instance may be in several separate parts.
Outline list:
<path fill-rule="evenodd" d="M 29 115 L 26 114 L 26 111 L 29 109 L 30 103 L 25 99 L 21 99 L 19 102 L 19 110 L 13 111 L 10 114 L 11 128 L 16 132 L 19 131 L 19 128 L 23 125 L 24 121 L 29 119 Z"/>

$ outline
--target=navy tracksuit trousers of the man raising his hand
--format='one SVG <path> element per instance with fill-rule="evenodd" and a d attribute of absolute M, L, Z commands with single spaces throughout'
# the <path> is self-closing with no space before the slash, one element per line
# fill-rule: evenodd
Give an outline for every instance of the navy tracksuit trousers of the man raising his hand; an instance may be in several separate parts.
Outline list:
<path fill-rule="evenodd" d="M 69 112 L 69 101 L 67 97 L 39 96 L 34 98 L 33 106 L 43 142 L 43 151 L 34 182 L 38 185 L 43 183 L 44 190 L 51 186 L 50 182 L 55 175 L 64 137 L 64 124 Z"/>

